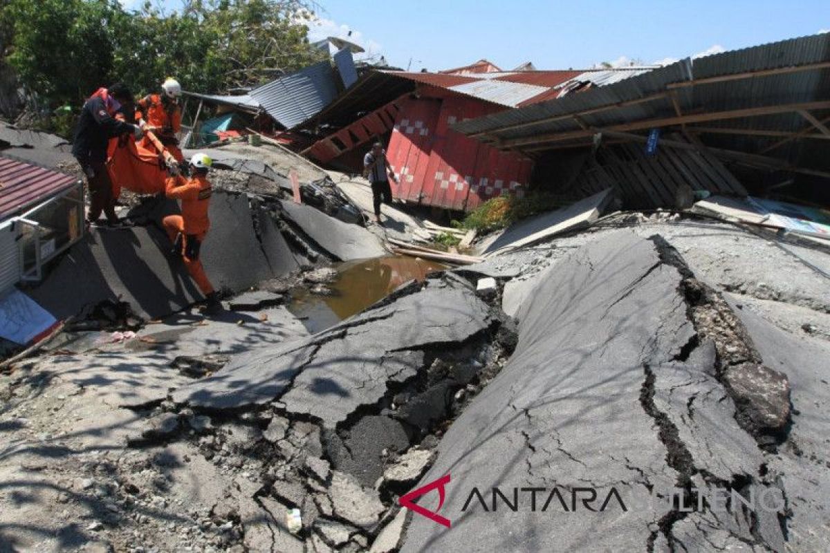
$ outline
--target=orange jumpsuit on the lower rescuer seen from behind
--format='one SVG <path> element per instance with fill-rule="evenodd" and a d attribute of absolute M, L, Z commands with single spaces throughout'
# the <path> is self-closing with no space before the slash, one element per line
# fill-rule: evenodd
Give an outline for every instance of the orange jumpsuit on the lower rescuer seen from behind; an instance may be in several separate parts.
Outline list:
<path fill-rule="evenodd" d="M 200 243 L 207 235 L 210 227 L 210 219 L 207 218 L 207 208 L 210 206 L 212 188 L 207 177 L 196 175 L 185 178 L 182 176 L 169 177 L 165 183 L 164 192 L 168 198 L 182 201 L 182 215 L 168 215 L 164 217 L 162 224 L 170 241 L 175 243 L 178 233 L 182 233 L 182 259 L 188 273 L 198 284 L 202 293 L 206 296 L 213 292 L 213 286 L 207 279 L 202 261 L 188 258 L 188 240 L 198 240 Z"/>

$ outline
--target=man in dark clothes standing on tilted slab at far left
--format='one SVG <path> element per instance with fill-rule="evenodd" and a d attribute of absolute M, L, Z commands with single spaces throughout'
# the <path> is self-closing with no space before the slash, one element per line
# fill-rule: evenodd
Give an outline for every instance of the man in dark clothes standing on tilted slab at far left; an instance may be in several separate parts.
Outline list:
<path fill-rule="evenodd" d="M 110 228 L 121 226 L 115 215 L 115 201 L 112 196 L 110 173 L 106 169 L 107 147 L 110 138 L 133 133 L 141 138 L 142 131 L 134 124 L 115 119 L 121 104 L 131 104 L 133 95 L 120 83 L 109 89 L 100 88 L 87 99 L 81 109 L 81 118 L 75 129 L 72 155 L 81 164 L 90 191 L 90 211 L 86 220 L 90 225 L 99 225 L 98 218 L 104 212 Z"/>

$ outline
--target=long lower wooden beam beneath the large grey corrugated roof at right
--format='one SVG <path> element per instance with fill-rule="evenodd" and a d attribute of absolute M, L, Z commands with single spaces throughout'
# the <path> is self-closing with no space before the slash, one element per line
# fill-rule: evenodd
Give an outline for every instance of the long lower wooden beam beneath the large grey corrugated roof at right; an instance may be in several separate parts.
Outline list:
<path fill-rule="evenodd" d="M 631 123 L 615 124 L 609 126 L 606 130 L 614 131 L 628 131 L 628 130 L 642 130 L 653 129 L 657 127 L 668 127 L 671 125 L 687 124 L 687 123 L 705 123 L 707 121 L 720 121 L 723 119 L 741 119 L 744 117 L 757 117 L 759 115 L 783 114 L 801 109 L 830 109 L 830 101 L 807 102 L 803 104 L 782 104 L 769 105 L 758 108 L 746 109 L 730 109 L 727 111 L 716 111 L 704 114 L 690 114 L 682 117 L 666 117 L 661 119 L 645 119 L 641 121 L 634 121 Z M 510 148 L 513 146 L 522 146 L 525 144 L 539 144 L 549 142 L 560 142 L 564 140 L 573 140 L 576 138 L 585 138 L 591 136 L 595 132 L 601 132 L 600 129 L 589 129 L 579 131 L 568 131 L 564 133 L 544 133 L 533 137 L 525 138 L 511 138 L 508 140 L 500 140 L 496 143 L 496 148 Z"/>

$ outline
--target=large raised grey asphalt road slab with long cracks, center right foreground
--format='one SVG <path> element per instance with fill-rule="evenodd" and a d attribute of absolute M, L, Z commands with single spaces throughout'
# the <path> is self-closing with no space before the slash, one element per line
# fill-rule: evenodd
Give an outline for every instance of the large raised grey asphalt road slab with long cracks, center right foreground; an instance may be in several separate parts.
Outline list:
<path fill-rule="evenodd" d="M 698 398 L 693 406 L 706 390 L 725 395 L 725 386 L 704 377 L 714 356 L 691 356 L 696 328 L 679 290 L 682 278 L 653 242 L 630 232 L 609 233 L 549 269 L 535 301 L 520 309 L 517 353 L 453 422 L 421 479 L 452 472 L 452 490 L 461 492 L 447 493 L 442 514 L 452 518 L 453 531 L 413 517 L 402 551 L 458 550 L 471 542 L 500 551 L 657 551 L 658 539 L 667 546 L 674 540 L 674 518 L 666 504 L 648 501 L 649 489 L 681 486 L 699 462 L 724 475 L 750 471 L 760 480 L 751 458 L 715 459 L 706 452 L 707 440 L 753 450 L 729 410 L 701 403 L 707 415 L 698 415 L 713 417 L 710 425 L 674 422 L 688 418 L 689 400 L 666 395 L 687 381 L 674 382 L 677 373 L 666 368 L 671 363 L 688 357 L 685 370 L 695 376 L 690 390 L 697 388 L 689 395 Z M 627 502 L 648 507 L 617 507 L 613 514 L 586 509 L 578 518 L 556 508 L 534 517 L 525 496 L 519 512 L 497 518 L 475 499 L 461 511 L 473 486 L 486 488 L 489 497 L 491 486 L 529 485 L 588 486 L 600 501 L 614 488 Z M 418 503 L 435 511 L 437 494 Z M 754 543 L 764 545 L 758 538 Z"/>

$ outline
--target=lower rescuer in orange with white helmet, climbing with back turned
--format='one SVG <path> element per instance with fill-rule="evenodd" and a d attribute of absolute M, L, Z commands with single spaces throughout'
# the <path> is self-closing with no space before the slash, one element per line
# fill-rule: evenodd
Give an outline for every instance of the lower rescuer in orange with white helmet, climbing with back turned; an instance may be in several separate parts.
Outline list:
<path fill-rule="evenodd" d="M 207 180 L 207 170 L 213 161 L 204 153 L 196 153 L 190 158 L 190 177 L 182 177 L 173 168 L 170 177 L 165 183 L 164 193 L 168 198 L 182 201 L 181 215 L 168 215 L 162 224 L 170 242 L 173 243 L 173 254 L 181 255 L 184 266 L 207 299 L 205 313 L 215 315 L 222 311 L 222 303 L 218 294 L 207 279 L 202 261 L 199 260 L 199 250 L 210 227 L 207 218 L 207 208 L 210 206 L 212 188 Z"/>

